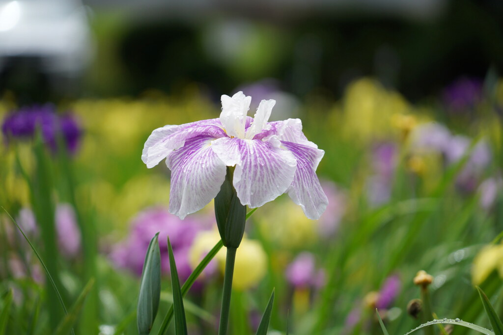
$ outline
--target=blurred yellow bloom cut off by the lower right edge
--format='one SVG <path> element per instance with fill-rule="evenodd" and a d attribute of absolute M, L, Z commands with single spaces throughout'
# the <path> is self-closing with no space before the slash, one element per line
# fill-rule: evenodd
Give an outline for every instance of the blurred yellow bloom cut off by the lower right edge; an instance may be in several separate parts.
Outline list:
<path fill-rule="evenodd" d="M 473 284 L 480 285 L 494 270 L 503 277 L 503 245 L 501 244 L 485 246 L 475 256 L 471 269 Z"/>

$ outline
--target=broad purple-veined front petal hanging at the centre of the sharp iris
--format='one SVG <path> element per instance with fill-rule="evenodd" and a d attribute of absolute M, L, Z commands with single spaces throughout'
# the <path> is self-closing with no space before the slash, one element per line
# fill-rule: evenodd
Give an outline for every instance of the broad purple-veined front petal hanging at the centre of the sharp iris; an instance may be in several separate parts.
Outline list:
<path fill-rule="evenodd" d="M 220 138 L 213 151 L 227 166 L 236 166 L 233 185 L 241 204 L 260 207 L 283 194 L 293 181 L 297 162 L 288 150 L 269 141 Z"/>

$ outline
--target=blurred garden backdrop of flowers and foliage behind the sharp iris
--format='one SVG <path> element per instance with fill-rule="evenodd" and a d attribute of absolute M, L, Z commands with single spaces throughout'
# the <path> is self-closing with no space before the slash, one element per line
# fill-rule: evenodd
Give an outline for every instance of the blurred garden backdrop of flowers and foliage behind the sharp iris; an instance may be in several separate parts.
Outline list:
<path fill-rule="evenodd" d="M 275 333 L 382 333 L 376 307 L 405 333 L 421 323 L 407 310 L 419 270 L 439 317 L 489 326 L 473 285 L 503 311 L 502 69 L 496 0 L 0 0 L 5 333 L 53 333 L 63 315 L 8 214 L 67 305 L 96 280 L 82 334 L 136 333 L 160 231 L 157 331 L 172 299 L 166 237 L 184 280 L 218 235 L 212 204 L 184 221 L 167 211 L 170 172 L 144 166 L 143 144 L 218 117 L 220 95 L 239 90 L 250 114 L 273 98 L 271 120 L 302 120 L 325 150 L 329 206 L 312 221 L 282 196 L 251 216 L 231 333 L 255 332 L 273 287 Z M 224 258 L 187 296 L 190 333 L 216 332 Z"/>

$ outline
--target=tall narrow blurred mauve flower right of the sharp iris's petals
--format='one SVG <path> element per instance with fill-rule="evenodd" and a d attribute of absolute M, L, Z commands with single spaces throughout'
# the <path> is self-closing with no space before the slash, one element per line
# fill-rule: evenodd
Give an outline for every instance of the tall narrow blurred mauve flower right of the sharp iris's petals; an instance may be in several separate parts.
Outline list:
<path fill-rule="evenodd" d="M 373 148 L 374 174 L 367 182 L 367 195 L 371 205 L 379 206 L 391 197 L 393 173 L 396 167 L 396 145 L 382 143 Z"/>

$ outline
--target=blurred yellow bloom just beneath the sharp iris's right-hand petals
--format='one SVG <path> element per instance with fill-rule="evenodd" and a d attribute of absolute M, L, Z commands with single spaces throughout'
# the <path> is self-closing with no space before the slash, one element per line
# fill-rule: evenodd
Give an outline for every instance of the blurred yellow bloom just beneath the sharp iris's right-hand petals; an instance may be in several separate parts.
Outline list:
<path fill-rule="evenodd" d="M 316 240 L 318 222 L 308 219 L 300 206 L 278 201 L 268 209 L 266 219 L 258 221 L 262 235 L 269 240 L 285 248 L 309 245 Z"/>

